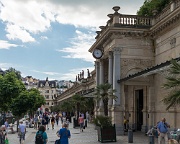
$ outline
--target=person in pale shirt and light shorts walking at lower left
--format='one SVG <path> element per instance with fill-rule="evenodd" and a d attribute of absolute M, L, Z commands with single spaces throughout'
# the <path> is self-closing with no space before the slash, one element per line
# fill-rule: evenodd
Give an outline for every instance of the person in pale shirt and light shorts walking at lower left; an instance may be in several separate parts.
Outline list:
<path fill-rule="evenodd" d="M 25 141 L 25 134 L 26 134 L 26 124 L 23 123 L 23 121 L 20 121 L 20 124 L 18 126 L 19 130 L 19 142 L 20 144 L 24 144 Z"/>

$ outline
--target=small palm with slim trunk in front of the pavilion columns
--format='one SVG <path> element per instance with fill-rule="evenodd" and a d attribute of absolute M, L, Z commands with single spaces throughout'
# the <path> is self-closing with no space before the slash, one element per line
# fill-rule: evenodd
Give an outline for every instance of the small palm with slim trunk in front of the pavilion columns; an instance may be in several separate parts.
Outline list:
<path fill-rule="evenodd" d="M 105 116 L 108 116 L 108 100 L 109 100 L 109 98 L 116 99 L 116 96 L 114 95 L 115 91 L 116 90 L 112 89 L 112 85 L 109 83 L 100 84 L 96 87 L 95 99 L 97 101 L 100 101 L 102 99 Z"/>

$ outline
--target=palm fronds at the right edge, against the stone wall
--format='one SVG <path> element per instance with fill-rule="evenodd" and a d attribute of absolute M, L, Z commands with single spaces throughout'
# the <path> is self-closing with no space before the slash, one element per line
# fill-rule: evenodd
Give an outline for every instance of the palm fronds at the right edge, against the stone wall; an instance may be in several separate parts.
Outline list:
<path fill-rule="evenodd" d="M 163 85 L 170 90 L 162 100 L 167 105 L 166 110 L 180 104 L 180 64 L 175 60 L 172 60 L 171 64 L 170 76 L 166 77 L 167 82 Z"/>

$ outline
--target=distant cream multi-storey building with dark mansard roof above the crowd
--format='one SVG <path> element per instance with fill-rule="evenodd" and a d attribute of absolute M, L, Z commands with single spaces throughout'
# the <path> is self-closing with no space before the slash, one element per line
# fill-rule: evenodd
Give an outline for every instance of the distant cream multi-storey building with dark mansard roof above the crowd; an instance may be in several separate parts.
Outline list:
<path fill-rule="evenodd" d="M 46 100 L 46 104 L 43 106 L 43 112 L 50 111 L 50 107 L 54 106 L 55 99 L 58 95 L 57 82 L 55 80 L 49 81 L 46 78 L 46 80 L 40 80 L 38 82 L 37 88 Z"/>

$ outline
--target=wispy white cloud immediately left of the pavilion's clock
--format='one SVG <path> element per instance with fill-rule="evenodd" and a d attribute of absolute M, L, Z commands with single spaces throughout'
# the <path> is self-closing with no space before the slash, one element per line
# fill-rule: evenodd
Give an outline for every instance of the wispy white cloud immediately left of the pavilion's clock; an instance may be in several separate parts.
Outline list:
<path fill-rule="evenodd" d="M 88 52 L 88 49 L 94 43 L 94 37 L 95 35 L 91 32 L 83 33 L 76 30 L 76 36 L 70 39 L 71 47 L 65 47 L 57 51 L 68 53 L 68 55 L 64 56 L 65 58 L 82 59 L 93 63 L 95 59 Z"/>

